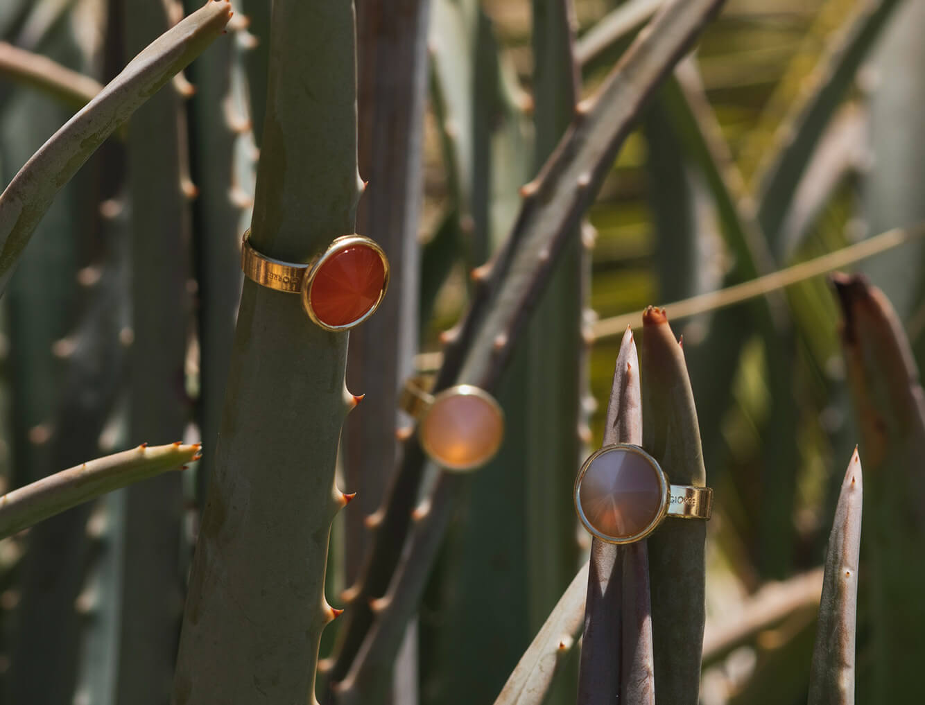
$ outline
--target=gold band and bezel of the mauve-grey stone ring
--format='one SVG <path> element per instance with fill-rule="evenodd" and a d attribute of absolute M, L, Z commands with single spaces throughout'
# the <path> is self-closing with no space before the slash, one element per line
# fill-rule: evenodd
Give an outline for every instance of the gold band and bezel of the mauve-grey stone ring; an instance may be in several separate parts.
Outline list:
<path fill-rule="evenodd" d="M 624 451 L 635 453 L 636 455 L 639 455 L 648 461 L 648 463 L 658 471 L 660 484 L 661 502 L 659 512 L 648 524 L 648 526 L 646 526 L 641 531 L 625 538 L 614 538 L 611 535 L 601 533 L 597 528 L 592 526 L 579 499 L 581 482 L 585 477 L 587 469 L 591 466 L 598 455 L 602 455 L 605 452 L 613 451 L 615 449 L 622 449 Z M 665 471 L 661 469 L 659 462 L 651 455 L 649 455 L 648 452 L 632 443 L 613 443 L 611 445 L 604 446 L 600 450 L 595 451 L 589 455 L 585 463 L 582 464 L 578 471 L 578 476 L 575 477 L 573 502 L 575 513 L 578 514 L 579 520 L 581 521 L 582 525 L 585 526 L 589 534 L 599 538 L 605 543 L 623 545 L 626 543 L 634 543 L 635 541 L 648 537 L 649 534 L 655 531 L 655 529 L 661 524 L 666 516 L 672 516 L 679 519 L 709 519 L 713 510 L 713 490 L 710 488 L 692 487 L 689 485 L 672 485 L 669 483 L 668 476 L 665 474 Z"/>

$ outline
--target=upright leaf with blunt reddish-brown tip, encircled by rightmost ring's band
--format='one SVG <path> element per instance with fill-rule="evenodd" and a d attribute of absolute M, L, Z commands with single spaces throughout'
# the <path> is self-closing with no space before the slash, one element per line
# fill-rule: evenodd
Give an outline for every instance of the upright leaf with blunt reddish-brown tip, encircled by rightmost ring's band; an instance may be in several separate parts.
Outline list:
<path fill-rule="evenodd" d="M 674 485 L 706 484 L 685 356 L 664 311 L 643 315 L 643 448 Z M 703 521 L 667 519 L 648 538 L 656 699 L 697 703 L 705 621 Z"/>

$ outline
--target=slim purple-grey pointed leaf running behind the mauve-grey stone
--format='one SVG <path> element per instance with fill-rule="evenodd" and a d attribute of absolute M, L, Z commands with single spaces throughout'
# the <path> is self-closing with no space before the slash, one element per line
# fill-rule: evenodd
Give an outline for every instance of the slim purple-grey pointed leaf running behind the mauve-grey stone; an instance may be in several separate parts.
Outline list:
<path fill-rule="evenodd" d="M 640 389 L 639 359 L 633 331 L 627 328 L 613 372 L 603 445 L 641 445 L 643 414 Z M 647 556 L 643 554 L 640 558 L 645 561 Z M 648 595 L 638 597 L 648 602 Z M 592 538 L 587 576 L 585 636 L 578 672 L 578 705 L 611 703 L 621 698 L 622 623 L 623 550 L 619 546 Z"/>

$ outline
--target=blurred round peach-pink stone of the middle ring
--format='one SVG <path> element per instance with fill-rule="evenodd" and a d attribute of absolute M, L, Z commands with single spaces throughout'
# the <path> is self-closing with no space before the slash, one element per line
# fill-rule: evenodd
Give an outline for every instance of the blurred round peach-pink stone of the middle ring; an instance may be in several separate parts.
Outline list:
<path fill-rule="evenodd" d="M 489 400 L 465 393 L 440 397 L 418 427 L 421 445 L 440 465 L 468 470 L 487 463 L 504 438 L 504 418 Z"/>

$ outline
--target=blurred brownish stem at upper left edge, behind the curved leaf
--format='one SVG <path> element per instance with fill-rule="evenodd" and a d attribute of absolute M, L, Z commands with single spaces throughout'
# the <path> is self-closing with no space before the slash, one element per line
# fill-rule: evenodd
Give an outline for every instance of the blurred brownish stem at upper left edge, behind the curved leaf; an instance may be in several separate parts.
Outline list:
<path fill-rule="evenodd" d="M 90 103 L 103 90 L 98 80 L 7 42 L 0 42 L 0 76 L 37 88 L 78 108 Z"/>

